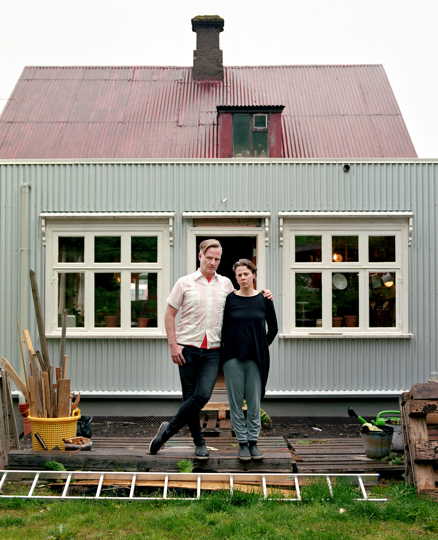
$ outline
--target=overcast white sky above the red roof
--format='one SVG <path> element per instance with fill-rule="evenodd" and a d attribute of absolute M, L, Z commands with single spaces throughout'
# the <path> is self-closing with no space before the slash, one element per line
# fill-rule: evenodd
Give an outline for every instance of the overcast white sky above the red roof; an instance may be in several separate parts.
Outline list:
<path fill-rule="evenodd" d="M 192 65 L 195 15 L 225 19 L 224 65 L 383 64 L 419 157 L 438 157 L 436 0 L 3 0 L 0 110 L 25 65 Z"/>

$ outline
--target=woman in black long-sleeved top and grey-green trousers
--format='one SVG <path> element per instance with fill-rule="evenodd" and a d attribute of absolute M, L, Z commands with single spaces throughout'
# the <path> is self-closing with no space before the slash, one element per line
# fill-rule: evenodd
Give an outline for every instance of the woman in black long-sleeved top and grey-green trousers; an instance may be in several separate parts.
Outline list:
<path fill-rule="evenodd" d="M 257 267 L 249 259 L 239 259 L 232 267 L 239 291 L 227 296 L 223 314 L 222 359 L 232 426 L 239 443 L 238 458 L 261 460 L 257 448 L 260 433 L 260 401 L 265 395 L 269 372 L 269 351 L 277 335 L 273 302 L 254 289 Z M 268 334 L 266 334 L 268 323 Z M 242 411 L 246 400 L 247 424 Z"/>

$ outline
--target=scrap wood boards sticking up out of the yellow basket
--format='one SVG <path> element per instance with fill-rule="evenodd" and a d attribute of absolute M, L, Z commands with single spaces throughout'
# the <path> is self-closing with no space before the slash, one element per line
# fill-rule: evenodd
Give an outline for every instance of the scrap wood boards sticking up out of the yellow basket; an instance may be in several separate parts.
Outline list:
<path fill-rule="evenodd" d="M 65 352 L 65 335 L 67 328 L 67 312 L 63 314 L 63 330 L 61 334 L 61 347 L 59 354 L 59 367 L 53 369 L 50 363 L 49 351 L 47 350 L 46 335 L 44 330 L 44 320 L 39 301 L 39 293 L 37 286 L 37 278 L 35 272 L 29 271 L 30 284 L 32 289 L 33 303 L 35 305 L 35 314 L 37 318 L 37 326 L 39 333 L 39 341 L 41 344 L 41 352 L 34 352 L 29 331 L 23 330 L 23 338 L 26 349 L 29 355 L 29 376 L 26 375 L 26 365 L 24 361 L 23 347 L 20 341 L 21 356 L 23 361 L 23 369 L 25 373 L 25 382 L 12 368 L 8 360 L 2 358 L 2 367 L 6 373 L 15 382 L 20 392 L 24 395 L 29 403 L 30 416 L 33 418 L 65 418 L 72 415 L 74 409 L 77 408 L 80 398 L 80 393 L 72 403 L 71 395 L 71 379 L 67 379 L 67 356 Z M 20 330 L 18 327 L 18 335 Z M 20 335 L 19 335 L 20 338 Z M 56 383 L 53 383 L 53 375 L 56 376 Z"/>

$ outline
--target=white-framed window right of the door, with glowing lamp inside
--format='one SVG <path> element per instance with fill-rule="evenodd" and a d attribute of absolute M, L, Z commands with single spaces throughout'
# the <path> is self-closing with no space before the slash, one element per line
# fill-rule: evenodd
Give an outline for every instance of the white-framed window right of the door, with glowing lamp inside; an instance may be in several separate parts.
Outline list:
<path fill-rule="evenodd" d="M 283 337 L 410 337 L 410 212 L 279 212 Z"/>

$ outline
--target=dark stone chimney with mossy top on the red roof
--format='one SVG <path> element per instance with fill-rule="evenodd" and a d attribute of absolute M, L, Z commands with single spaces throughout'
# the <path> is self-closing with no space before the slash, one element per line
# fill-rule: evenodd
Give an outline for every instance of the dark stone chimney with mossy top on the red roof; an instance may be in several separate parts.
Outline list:
<path fill-rule="evenodd" d="M 191 19 L 196 32 L 196 51 L 193 51 L 194 80 L 223 80 L 222 51 L 219 33 L 224 20 L 218 15 L 198 15 Z"/>

